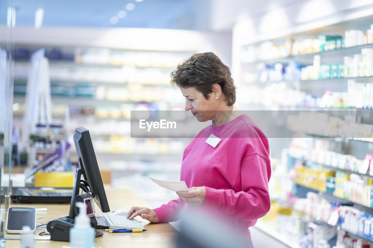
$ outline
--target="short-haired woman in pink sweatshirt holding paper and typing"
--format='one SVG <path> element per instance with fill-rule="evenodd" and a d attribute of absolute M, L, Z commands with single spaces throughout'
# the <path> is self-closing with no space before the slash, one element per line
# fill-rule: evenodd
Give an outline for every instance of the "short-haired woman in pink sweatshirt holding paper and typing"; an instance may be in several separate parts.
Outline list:
<path fill-rule="evenodd" d="M 250 235 L 248 227 L 270 208 L 267 138 L 233 105 L 236 88 L 231 72 L 214 53 L 194 54 L 185 60 L 171 73 L 171 84 L 184 95 L 186 111 L 212 124 L 185 148 L 180 180 L 189 191 L 176 192 L 177 200 L 153 210 L 132 207 L 127 217 L 173 222 L 190 206 L 200 207 L 217 218 L 229 219 L 232 227 Z M 215 147 L 206 143 L 211 134 L 221 139 Z"/>

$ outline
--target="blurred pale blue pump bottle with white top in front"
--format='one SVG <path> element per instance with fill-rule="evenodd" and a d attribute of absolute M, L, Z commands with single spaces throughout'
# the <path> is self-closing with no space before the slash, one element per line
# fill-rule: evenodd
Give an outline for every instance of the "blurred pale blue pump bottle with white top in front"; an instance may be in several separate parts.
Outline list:
<path fill-rule="evenodd" d="M 94 244 L 95 229 L 91 227 L 85 204 L 77 202 L 75 205 L 79 207 L 79 214 L 75 217 L 74 227 L 70 228 L 70 247 L 91 248 Z"/>

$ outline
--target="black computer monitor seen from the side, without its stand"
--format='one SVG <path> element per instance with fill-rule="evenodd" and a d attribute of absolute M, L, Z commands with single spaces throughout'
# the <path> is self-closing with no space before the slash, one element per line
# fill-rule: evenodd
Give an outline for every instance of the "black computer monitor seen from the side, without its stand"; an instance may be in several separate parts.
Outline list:
<path fill-rule="evenodd" d="M 95 203 L 103 213 L 109 212 L 109 203 L 107 202 L 100 170 L 98 169 L 90 132 L 87 128 L 77 127 L 73 139 L 78 159 L 80 158 L 81 166 L 83 167 L 83 177 L 90 187 L 91 192 L 87 193 L 91 193 L 94 196 Z"/>

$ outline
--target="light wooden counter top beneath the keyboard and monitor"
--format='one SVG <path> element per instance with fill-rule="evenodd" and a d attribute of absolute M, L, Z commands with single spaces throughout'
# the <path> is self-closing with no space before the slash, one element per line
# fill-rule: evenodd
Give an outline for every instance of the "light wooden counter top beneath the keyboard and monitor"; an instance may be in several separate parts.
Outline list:
<path fill-rule="evenodd" d="M 110 210 L 116 209 L 130 209 L 132 206 L 150 207 L 144 200 L 142 200 L 134 191 L 129 189 L 106 189 L 106 196 L 109 201 Z M 11 204 L 12 207 L 47 207 L 47 212 L 36 212 L 36 217 L 43 216 L 37 219 L 37 223 L 46 223 L 46 220 L 54 220 L 59 217 L 67 216 L 69 214 L 69 204 Z M 95 212 L 101 213 L 101 210 L 95 206 Z M 5 219 L 7 218 L 7 213 Z M 95 246 L 102 248 L 109 247 L 174 247 L 173 242 L 176 237 L 176 229 L 169 223 L 154 224 L 147 220 L 141 223 L 146 232 L 138 233 L 108 233 L 105 230 L 99 230 L 104 233 L 103 236 L 95 239 Z M 36 230 L 35 235 L 38 235 L 42 230 Z M 19 235 L 9 234 L 6 236 Z M 20 247 L 19 240 L 7 240 L 6 247 Z M 50 240 L 35 240 L 35 247 L 62 247 L 69 246 L 69 242 L 50 241 Z"/>

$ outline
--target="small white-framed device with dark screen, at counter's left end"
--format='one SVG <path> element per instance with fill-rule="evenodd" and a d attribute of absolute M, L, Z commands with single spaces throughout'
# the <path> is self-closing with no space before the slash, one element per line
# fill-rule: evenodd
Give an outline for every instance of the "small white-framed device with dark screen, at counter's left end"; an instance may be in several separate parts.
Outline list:
<path fill-rule="evenodd" d="M 10 207 L 6 222 L 8 233 L 24 233 L 23 226 L 29 226 L 35 232 L 36 209 L 34 207 Z"/>

